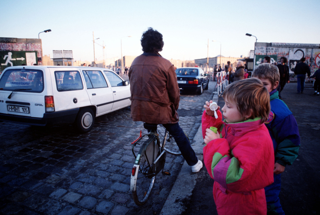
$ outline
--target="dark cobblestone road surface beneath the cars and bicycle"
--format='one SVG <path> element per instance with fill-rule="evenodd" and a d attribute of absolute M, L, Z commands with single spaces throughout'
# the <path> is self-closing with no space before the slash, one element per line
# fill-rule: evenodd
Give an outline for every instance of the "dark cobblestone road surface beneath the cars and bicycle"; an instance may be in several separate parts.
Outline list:
<path fill-rule="evenodd" d="M 179 124 L 191 143 L 214 85 L 202 95 L 181 94 Z M 140 130 L 146 133 L 130 108 L 96 118 L 86 134 L 71 125 L 0 122 L 0 214 L 159 214 L 184 159 L 167 154 L 164 168 L 171 176 L 158 174 L 148 202 L 135 205 L 130 142 Z"/>

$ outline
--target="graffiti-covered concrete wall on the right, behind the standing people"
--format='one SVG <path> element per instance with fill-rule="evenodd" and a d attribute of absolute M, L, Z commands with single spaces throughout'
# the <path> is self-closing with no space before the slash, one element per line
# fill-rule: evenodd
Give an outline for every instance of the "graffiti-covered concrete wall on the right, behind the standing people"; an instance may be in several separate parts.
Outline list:
<path fill-rule="evenodd" d="M 304 43 L 279 43 L 279 42 L 256 42 L 254 46 L 254 66 L 258 66 L 265 56 L 271 57 L 271 63 L 280 62 L 281 57 L 288 59 L 290 68 L 290 80 L 296 80 L 293 73 L 294 67 L 301 58 L 306 62 L 313 74 L 320 67 L 320 44 Z"/>

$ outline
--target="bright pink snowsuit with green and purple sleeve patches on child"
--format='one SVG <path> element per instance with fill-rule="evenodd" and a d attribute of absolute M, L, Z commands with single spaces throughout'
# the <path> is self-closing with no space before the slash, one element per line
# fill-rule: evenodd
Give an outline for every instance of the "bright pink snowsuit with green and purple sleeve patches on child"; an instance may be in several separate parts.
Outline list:
<path fill-rule="evenodd" d="M 222 121 L 204 111 L 202 134 L 217 127 L 220 139 L 203 149 L 204 165 L 214 179 L 213 197 L 218 214 L 267 214 L 264 187 L 273 183 L 274 150 L 260 118 L 239 123 Z M 220 132 L 221 131 L 221 132 Z"/>

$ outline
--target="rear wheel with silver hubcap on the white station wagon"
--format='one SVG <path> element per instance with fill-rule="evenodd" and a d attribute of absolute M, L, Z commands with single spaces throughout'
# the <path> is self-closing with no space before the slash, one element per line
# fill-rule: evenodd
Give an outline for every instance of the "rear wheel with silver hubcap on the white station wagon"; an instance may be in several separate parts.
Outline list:
<path fill-rule="evenodd" d="M 91 108 L 81 109 L 76 117 L 75 125 L 80 133 L 90 131 L 94 125 L 95 114 Z"/>

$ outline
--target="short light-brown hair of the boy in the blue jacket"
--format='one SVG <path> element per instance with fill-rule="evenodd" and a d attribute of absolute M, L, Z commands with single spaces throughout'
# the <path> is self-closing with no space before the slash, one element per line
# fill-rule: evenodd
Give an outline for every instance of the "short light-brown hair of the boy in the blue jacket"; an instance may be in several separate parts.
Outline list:
<path fill-rule="evenodd" d="M 276 81 L 280 81 L 279 69 L 276 65 L 263 63 L 256 67 L 252 72 L 252 77 L 259 79 L 268 79 L 274 86 Z"/>

